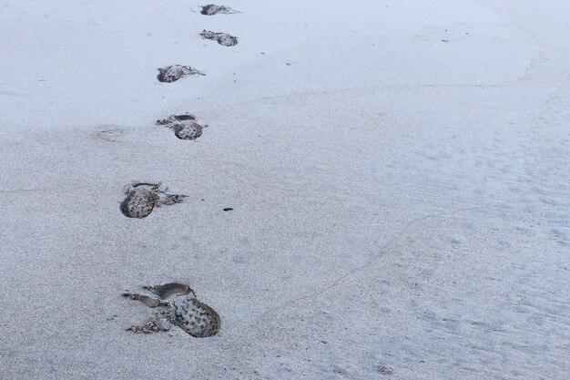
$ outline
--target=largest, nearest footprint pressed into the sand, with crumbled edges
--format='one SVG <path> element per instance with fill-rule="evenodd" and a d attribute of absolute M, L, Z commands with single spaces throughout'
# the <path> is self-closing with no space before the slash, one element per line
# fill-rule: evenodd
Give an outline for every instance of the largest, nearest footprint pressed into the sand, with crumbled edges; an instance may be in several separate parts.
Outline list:
<path fill-rule="evenodd" d="M 200 303 L 188 285 L 170 282 L 158 286 L 143 286 L 143 289 L 150 294 L 126 292 L 123 296 L 156 308 L 157 313 L 148 323 L 133 325 L 127 330 L 151 334 L 168 331 L 174 325 L 197 338 L 219 334 L 218 313 L 207 304 Z"/>

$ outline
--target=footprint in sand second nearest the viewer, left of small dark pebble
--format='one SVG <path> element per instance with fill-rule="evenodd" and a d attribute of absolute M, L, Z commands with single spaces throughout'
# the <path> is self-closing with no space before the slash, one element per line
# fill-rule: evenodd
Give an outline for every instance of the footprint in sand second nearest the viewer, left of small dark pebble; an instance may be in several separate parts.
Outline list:
<path fill-rule="evenodd" d="M 127 197 L 119 210 L 128 218 L 148 217 L 155 207 L 184 201 L 186 195 L 168 193 L 168 186 L 158 183 L 132 182 L 123 188 Z"/>

